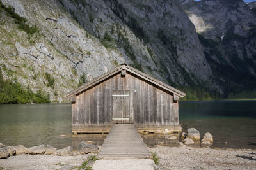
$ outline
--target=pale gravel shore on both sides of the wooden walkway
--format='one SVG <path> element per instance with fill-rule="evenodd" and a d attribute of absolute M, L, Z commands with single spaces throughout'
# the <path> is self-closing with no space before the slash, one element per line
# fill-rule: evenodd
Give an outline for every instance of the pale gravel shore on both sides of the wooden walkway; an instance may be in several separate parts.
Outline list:
<path fill-rule="evenodd" d="M 149 148 L 164 169 L 256 169 L 256 150 L 223 150 L 189 146 Z M 0 169 L 60 169 L 80 166 L 92 154 L 79 156 L 18 155 L 0 159 Z"/>

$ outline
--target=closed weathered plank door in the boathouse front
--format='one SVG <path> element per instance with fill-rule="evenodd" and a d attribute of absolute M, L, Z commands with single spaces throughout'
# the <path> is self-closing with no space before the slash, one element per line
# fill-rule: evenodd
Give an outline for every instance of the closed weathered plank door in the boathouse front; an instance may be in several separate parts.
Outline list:
<path fill-rule="evenodd" d="M 133 90 L 113 91 L 113 124 L 133 123 Z"/>

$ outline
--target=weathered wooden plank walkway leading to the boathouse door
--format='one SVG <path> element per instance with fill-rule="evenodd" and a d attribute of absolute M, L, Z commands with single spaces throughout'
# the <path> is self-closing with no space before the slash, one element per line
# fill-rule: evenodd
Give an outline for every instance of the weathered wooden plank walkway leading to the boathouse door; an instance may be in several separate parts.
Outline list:
<path fill-rule="evenodd" d="M 134 124 L 114 124 L 98 154 L 102 159 L 143 159 L 152 155 Z"/>

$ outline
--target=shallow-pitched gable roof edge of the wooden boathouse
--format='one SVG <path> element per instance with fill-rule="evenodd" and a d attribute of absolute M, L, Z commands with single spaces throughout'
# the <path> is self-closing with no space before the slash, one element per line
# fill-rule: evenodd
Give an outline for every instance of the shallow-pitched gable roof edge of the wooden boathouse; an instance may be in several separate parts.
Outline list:
<path fill-rule="evenodd" d="M 133 67 L 127 66 L 126 64 L 121 64 L 120 66 L 116 67 L 115 69 L 112 69 L 108 71 L 107 73 L 104 73 L 97 78 L 93 78 L 93 80 L 88 81 L 88 83 L 85 83 L 81 87 L 77 87 L 77 89 L 74 89 L 66 94 L 66 97 L 72 97 L 76 94 L 79 94 L 80 92 L 83 92 L 84 90 L 93 87 L 94 85 L 97 85 L 98 83 L 107 80 L 110 76 L 115 75 L 116 73 L 119 73 L 122 70 L 126 70 L 129 73 L 135 74 L 136 76 L 139 76 L 143 80 L 147 80 L 150 83 L 153 83 L 157 87 L 161 87 L 164 90 L 167 90 L 168 92 L 172 92 L 173 94 L 176 94 L 179 97 L 186 96 L 186 93 L 181 92 L 178 89 L 175 89 L 174 87 L 167 85 L 166 83 L 163 83 L 162 81 L 156 80 L 155 78 L 152 78 L 152 76 L 148 76 L 145 73 L 142 73 L 141 71 L 138 71 L 137 69 L 134 69 Z"/>

